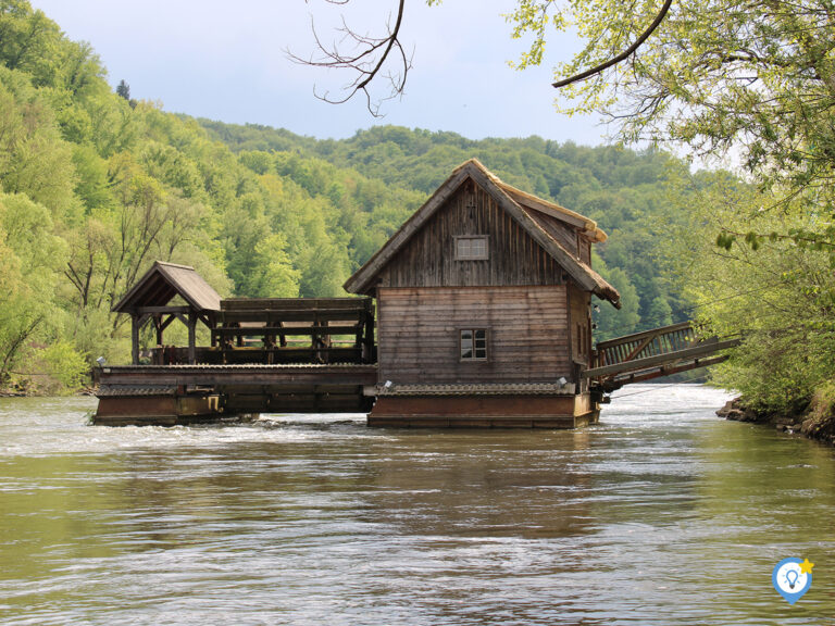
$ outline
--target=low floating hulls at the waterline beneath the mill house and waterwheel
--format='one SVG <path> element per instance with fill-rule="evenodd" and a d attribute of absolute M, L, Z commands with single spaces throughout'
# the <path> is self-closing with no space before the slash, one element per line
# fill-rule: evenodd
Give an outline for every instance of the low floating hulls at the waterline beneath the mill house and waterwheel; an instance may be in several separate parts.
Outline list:
<path fill-rule="evenodd" d="M 361 364 L 103 367 L 92 422 L 176 426 L 258 413 L 367 413 L 369 426 L 575 428 L 599 415 L 573 384 L 376 383 L 377 366 Z"/>

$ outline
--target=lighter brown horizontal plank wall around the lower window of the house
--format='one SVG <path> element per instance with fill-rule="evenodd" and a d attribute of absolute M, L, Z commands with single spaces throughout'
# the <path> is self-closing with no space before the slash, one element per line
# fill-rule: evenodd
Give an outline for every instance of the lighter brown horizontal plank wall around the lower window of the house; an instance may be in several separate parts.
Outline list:
<path fill-rule="evenodd" d="M 565 286 L 381 288 L 379 383 L 574 380 Z M 489 360 L 461 362 L 461 328 L 488 328 Z"/>

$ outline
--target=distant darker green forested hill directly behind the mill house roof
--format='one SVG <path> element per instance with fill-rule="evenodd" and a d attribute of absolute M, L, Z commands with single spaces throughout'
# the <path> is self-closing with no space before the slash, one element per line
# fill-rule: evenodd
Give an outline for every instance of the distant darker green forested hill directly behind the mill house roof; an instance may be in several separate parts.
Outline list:
<path fill-rule="evenodd" d="M 376 126 L 338 141 L 315 140 L 259 125 L 199 122 L 239 159 L 271 161 L 281 175 L 314 196 L 335 166 L 426 197 L 454 167 L 475 156 L 504 181 L 583 213 L 609 234 L 609 241 L 597 246 L 595 267 L 623 295 L 624 308 L 601 308 L 599 338 L 687 316 L 687 303 L 663 276 L 661 245 L 684 218 L 671 209 L 669 180 L 690 176 L 668 153 L 587 148 L 539 137 L 471 140 L 398 126 Z"/>

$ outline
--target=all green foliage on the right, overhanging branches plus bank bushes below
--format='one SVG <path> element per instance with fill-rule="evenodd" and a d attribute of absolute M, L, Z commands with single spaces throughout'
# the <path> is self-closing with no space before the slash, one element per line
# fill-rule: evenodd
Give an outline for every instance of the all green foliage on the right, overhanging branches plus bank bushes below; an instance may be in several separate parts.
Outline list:
<path fill-rule="evenodd" d="M 599 65 L 658 9 L 519 0 L 515 34 L 533 38 L 519 66 L 541 61 L 549 24 L 574 25 L 586 40 L 558 78 Z M 568 112 L 610 116 L 625 141 L 731 154 L 756 185 L 722 175 L 683 183 L 676 203 L 689 223 L 668 256 L 680 260 L 680 287 L 703 323 L 744 338 L 716 379 L 765 410 L 802 409 L 835 376 L 832 15 L 830 0 L 677 1 L 628 61 L 562 91 L 576 98 Z"/>

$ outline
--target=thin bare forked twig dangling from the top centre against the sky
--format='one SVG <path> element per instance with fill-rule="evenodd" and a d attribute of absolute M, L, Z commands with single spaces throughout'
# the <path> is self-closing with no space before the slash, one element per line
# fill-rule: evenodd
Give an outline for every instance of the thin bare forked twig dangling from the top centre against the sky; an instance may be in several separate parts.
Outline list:
<path fill-rule="evenodd" d="M 350 0 L 326 0 L 331 4 L 348 4 Z M 342 25 L 336 32 L 341 34 L 340 41 L 326 46 L 319 36 L 313 20 L 311 18 L 311 30 L 319 49 L 319 55 L 311 54 L 303 59 L 289 50 L 285 50 L 288 58 L 301 65 L 313 67 L 325 67 L 328 70 L 348 70 L 354 74 L 353 79 L 344 88 L 344 97 L 332 97 L 329 91 L 314 95 L 320 100 L 331 104 L 341 104 L 362 92 L 365 96 L 365 107 L 374 117 L 382 117 L 379 113 L 381 104 L 386 100 L 391 100 L 401 96 L 406 87 L 406 78 L 412 68 L 411 55 L 408 55 L 403 49 L 399 36 L 400 27 L 403 21 L 403 9 L 406 0 L 398 0 L 397 20 L 394 28 L 391 27 L 391 17 L 389 15 L 386 24 L 387 34 L 384 37 L 373 37 L 371 35 L 361 35 L 348 26 L 344 16 Z M 348 52 L 340 50 L 340 46 L 347 46 Z M 395 71 L 384 72 L 386 62 L 391 58 L 398 59 Z M 385 77 L 389 84 L 387 96 L 376 98 L 372 96 L 371 87 L 375 79 Z"/>

